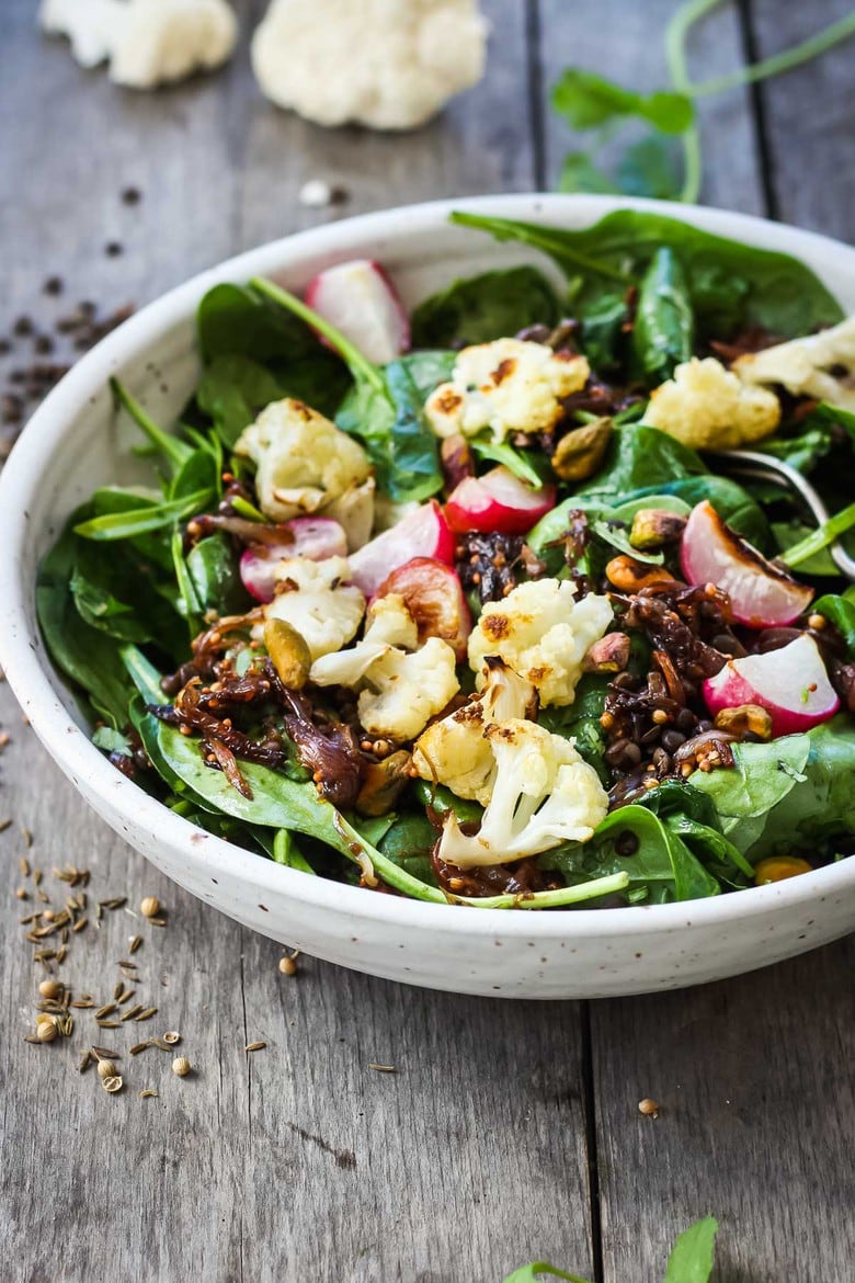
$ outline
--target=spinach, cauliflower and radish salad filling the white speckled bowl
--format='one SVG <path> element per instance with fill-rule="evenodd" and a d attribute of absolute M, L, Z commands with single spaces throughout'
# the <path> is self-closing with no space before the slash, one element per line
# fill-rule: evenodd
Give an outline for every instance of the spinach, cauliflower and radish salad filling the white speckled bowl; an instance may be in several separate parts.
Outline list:
<path fill-rule="evenodd" d="M 409 312 L 368 258 L 220 282 L 176 425 L 113 382 L 150 484 L 95 490 L 37 586 L 94 743 L 218 838 L 424 902 L 846 858 L 855 319 L 658 212 L 452 218 L 558 271 Z"/>

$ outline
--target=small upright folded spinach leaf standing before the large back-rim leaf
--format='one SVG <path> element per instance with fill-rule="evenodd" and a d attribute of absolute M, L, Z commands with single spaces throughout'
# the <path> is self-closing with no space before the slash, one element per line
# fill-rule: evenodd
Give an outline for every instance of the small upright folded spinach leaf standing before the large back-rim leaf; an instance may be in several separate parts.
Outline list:
<path fill-rule="evenodd" d="M 692 354 L 695 316 L 679 260 L 672 249 L 658 249 L 638 287 L 632 350 L 652 387 L 670 378 Z"/>

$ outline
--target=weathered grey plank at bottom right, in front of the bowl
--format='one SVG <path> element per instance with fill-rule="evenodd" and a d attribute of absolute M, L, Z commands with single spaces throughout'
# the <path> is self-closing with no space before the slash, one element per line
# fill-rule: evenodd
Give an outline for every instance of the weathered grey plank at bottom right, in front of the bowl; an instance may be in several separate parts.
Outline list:
<path fill-rule="evenodd" d="M 605 1283 L 659 1277 L 708 1214 L 722 1279 L 851 1275 L 854 962 L 850 938 L 691 994 L 591 1006 Z"/>

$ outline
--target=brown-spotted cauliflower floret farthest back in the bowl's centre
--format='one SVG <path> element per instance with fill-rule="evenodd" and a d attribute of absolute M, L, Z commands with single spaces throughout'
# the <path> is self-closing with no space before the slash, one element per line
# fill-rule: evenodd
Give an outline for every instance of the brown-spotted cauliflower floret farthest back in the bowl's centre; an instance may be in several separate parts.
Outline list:
<path fill-rule="evenodd" d="M 496 339 L 464 348 L 451 380 L 424 407 L 437 436 L 476 436 L 485 429 L 501 441 L 509 432 L 547 432 L 564 413 L 561 398 L 585 387 L 585 357 L 542 343 Z"/>

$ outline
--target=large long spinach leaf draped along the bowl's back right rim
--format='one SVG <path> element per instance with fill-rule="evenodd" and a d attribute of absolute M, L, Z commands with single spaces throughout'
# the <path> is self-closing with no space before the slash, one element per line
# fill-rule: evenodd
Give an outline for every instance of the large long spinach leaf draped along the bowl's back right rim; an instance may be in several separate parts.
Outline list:
<path fill-rule="evenodd" d="M 577 303 L 583 322 L 591 303 L 602 296 L 605 282 L 637 285 L 663 245 L 670 246 L 686 273 L 701 339 L 727 337 L 738 325 L 797 337 L 843 318 L 837 300 L 797 259 L 714 236 L 664 214 L 619 209 L 579 231 L 463 212 L 451 219 L 499 240 L 531 245 L 554 258 L 570 277 L 581 273 Z"/>

